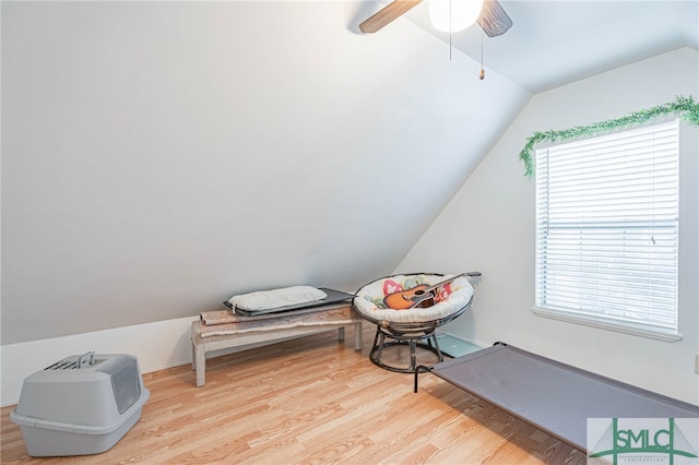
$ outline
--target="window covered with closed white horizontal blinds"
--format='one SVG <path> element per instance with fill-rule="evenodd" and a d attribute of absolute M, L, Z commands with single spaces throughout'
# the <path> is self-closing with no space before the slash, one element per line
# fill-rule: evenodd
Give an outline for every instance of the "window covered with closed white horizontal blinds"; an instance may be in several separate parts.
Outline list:
<path fill-rule="evenodd" d="M 536 152 L 545 317 L 676 341 L 678 121 Z"/>

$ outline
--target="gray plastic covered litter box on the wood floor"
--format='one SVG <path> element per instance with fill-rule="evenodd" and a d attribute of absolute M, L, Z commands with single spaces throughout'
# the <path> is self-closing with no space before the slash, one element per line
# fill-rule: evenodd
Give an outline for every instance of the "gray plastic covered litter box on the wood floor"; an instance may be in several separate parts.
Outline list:
<path fill-rule="evenodd" d="M 149 396 L 135 357 L 87 353 L 26 378 L 10 419 L 32 456 L 98 454 L 139 421 Z"/>

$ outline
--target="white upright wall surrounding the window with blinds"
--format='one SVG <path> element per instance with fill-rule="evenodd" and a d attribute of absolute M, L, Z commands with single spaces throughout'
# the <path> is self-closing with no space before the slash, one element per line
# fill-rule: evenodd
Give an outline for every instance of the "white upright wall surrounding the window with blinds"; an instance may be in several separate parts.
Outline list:
<path fill-rule="evenodd" d="M 699 404 L 699 136 L 682 126 L 679 330 L 660 342 L 534 315 L 534 181 L 518 160 L 534 131 L 614 119 L 672 102 L 699 100 L 699 53 L 657 56 L 536 95 L 406 255 L 396 272 L 477 270 L 472 310 L 446 331 L 496 341 Z"/>

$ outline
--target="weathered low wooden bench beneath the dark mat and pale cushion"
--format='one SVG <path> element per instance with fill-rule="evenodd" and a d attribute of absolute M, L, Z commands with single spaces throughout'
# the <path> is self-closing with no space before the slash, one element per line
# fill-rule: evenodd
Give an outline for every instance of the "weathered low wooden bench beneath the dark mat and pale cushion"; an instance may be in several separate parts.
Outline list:
<path fill-rule="evenodd" d="M 337 338 L 344 341 L 346 326 L 354 326 L 354 347 L 362 350 L 362 317 L 350 305 L 323 308 L 304 315 L 251 318 L 225 325 L 206 326 L 201 321 L 194 321 L 191 341 L 197 386 L 203 386 L 206 382 L 206 354 L 212 350 L 232 349 L 228 353 L 236 353 L 335 329 Z"/>

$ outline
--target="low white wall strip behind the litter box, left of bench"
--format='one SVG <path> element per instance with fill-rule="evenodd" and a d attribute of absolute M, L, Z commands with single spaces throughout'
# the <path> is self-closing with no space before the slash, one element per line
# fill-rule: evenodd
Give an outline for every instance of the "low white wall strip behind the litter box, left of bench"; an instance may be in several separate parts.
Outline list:
<path fill-rule="evenodd" d="M 0 405 L 17 403 L 22 383 L 29 374 L 64 357 L 90 350 L 134 355 L 144 373 L 191 363 L 190 326 L 196 319 L 166 320 L 1 346 Z"/>

